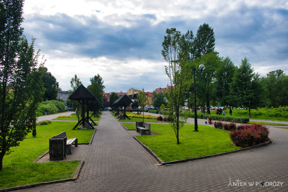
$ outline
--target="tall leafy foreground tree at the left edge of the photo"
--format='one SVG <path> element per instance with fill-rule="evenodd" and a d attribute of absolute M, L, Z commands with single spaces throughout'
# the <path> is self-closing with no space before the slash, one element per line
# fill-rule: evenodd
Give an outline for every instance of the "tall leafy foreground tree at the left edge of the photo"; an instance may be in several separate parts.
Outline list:
<path fill-rule="evenodd" d="M 33 125 L 35 110 L 43 96 L 39 51 L 28 43 L 20 27 L 23 1 L 0 1 L 0 170 L 3 157 L 19 146 Z"/>

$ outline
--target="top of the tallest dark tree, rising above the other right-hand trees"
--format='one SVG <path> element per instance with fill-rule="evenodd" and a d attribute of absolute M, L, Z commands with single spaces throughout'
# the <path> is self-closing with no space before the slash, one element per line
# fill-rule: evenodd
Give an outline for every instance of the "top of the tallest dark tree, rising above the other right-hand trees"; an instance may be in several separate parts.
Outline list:
<path fill-rule="evenodd" d="M 199 26 L 196 37 L 194 39 L 195 56 L 201 57 L 207 53 L 214 52 L 215 37 L 213 28 L 208 23 Z"/>

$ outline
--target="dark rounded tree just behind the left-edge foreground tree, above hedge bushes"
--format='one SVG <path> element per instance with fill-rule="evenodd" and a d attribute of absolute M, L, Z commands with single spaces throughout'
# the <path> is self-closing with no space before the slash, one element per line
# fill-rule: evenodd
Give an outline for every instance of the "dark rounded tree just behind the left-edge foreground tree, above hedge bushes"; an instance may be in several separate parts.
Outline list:
<path fill-rule="evenodd" d="M 50 72 L 48 72 L 46 67 L 43 68 L 42 81 L 45 88 L 43 100 L 55 100 L 58 94 L 59 83 L 56 81 L 56 78 Z"/>

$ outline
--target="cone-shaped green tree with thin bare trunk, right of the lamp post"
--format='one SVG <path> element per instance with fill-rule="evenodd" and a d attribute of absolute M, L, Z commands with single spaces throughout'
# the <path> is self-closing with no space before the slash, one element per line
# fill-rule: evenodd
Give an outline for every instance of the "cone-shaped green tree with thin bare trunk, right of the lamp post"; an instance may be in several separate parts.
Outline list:
<path fill-rule="evenodd" d="M 259 81 L 259 74 L 254 72 L 249 60 L 246 57 L 242 59 L 230 83 L 230 96 L 234 98 L 238 106 L 249 109 L 249 117 L 251 117 L 250 109 L 258 107 L 261 101 L 262 87 Z"/>

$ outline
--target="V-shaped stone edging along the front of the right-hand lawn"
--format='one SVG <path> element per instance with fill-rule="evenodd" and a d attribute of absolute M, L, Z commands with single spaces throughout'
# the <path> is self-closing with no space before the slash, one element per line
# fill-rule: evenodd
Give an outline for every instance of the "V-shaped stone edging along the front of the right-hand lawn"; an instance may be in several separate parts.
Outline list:
<path fill-rule="evenodd" d="M 246 147 L 246 148 L 242 148 L 242 149 L 238 149 L 238 150 L 234 150 L 234 151 L 228 151 L 228 152 L 224 152 L 224 153 L 217 153 L 217 154 L 213 154 L 213 155 L 206 155 L 206 156 L 202 156 L 202 157 L 194 157 L 194 158 L 189 158 L 189 159 L 181 159 L 181 160 L 176 160 L 176 161 L 168 161 L 168 162 L 164 162 L 162 161 L 162 159 L 160 159 L 149 147 L 147 147 L 146 145 L 144 145 L 142 142 L 140 142 L 135 136 L 133 136 L 133 138 L 135 140 L 137 140 L 143 147 L 144 149 L 146 149 L 153 157 L 155 157 L 157 159 L 157 161 L 159 161 L 162 165 L 167 165 L 167 164 L 176 164 L 176 163 L 182 163 L 182 162 L 186 162 L 186 161 L 194 161 L 194 160 L 198 160 L 198 159 L 206 159 L 206 158 L 210 158 L 210 157 L 216 157 L 216 156 L 220 156 L 220 155 L 226 155 L 229 153 L 237 153 L 240 151 L 246 151 L 249 149 L 254 149 L 254 148 L 259 148 L 259 147 L 264 147 L 267 146 L 268 144 L 272 143 L 271 140 L 269 139 L 269 141 L 266 141 L 264 143 L 260 143 L 258 145 L 254 145 L 251 147 Z"/>

